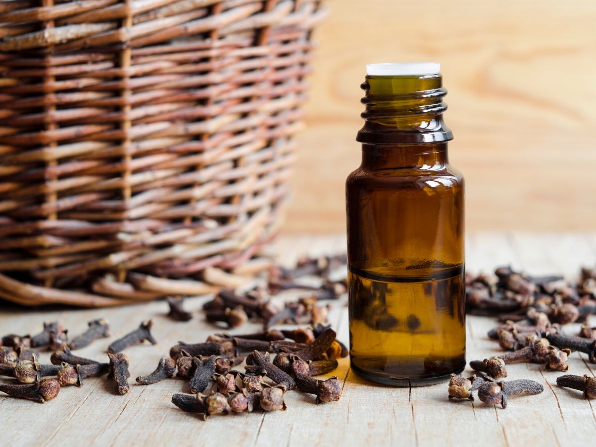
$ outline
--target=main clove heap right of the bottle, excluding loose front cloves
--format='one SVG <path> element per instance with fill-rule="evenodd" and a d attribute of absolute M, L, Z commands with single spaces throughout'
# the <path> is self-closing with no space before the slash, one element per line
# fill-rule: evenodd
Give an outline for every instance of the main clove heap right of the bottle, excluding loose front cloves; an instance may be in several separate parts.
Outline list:
<path fill-rule="evenodd" d="M 572 351 L 585 352 L 596 362 L 596 330 L 584 325 L 579 336 L 564 333 L 563 326 L 585 321 L 596 312 L 596 270 L 583 268 L 577 284 L 562 277 L 530 277 L 509 267 L 495 275 L 469 275 L 467 308 L 470 313 L 498 316 L 501 324 L 489 338 L 510 351 L 471 367 L 493 378 L 507 376 L 505 364 L 531 362 L 546 370 L 567 371 Z M 587 337 L 587 338 L 586 338 Z"/>

